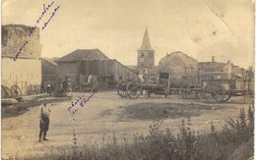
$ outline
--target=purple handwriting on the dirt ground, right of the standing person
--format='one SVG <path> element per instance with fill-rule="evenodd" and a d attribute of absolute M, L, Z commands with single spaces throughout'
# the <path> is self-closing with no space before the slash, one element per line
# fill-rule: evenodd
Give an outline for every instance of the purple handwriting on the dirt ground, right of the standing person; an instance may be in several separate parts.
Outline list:
<path fill-rule="evenodd" d="M 72 101 L 71 106 L 68 107 L 68 111 L 72 115 L 74 115 L 79 110 L 79 108 L 86 106 L 87 102 L 90 101 L 90 99 L 95 95 L 95 93 L 95 91 L 91 93 L 88 98 L 86 98 L 85 95 L 83 95 L 82 97 L 79 97 L 76 101 Z"/>

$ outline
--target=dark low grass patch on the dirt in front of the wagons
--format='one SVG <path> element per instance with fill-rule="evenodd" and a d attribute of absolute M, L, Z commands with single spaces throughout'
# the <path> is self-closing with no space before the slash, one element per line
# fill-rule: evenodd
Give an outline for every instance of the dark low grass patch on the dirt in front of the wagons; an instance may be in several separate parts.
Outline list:
<path fill-rule="evenodd" d="M 223 109 L 224 106 L 211 107 L 202 104 L 179 103 L 140 103 L 120 107 L 123 109 L 119 119 L 159 120 L 167 118 L 200 116 L 206 110 Z"/>

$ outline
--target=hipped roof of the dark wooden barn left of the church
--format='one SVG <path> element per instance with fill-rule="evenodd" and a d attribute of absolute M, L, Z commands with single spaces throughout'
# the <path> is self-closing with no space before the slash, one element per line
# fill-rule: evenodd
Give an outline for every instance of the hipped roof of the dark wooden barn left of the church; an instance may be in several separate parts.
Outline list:
<path fill-rule="evenodd" d="M 103 60 L 108 59 L 99 49 L 77 49 L 55 62 L 74 62 L 82 60 Z"/>

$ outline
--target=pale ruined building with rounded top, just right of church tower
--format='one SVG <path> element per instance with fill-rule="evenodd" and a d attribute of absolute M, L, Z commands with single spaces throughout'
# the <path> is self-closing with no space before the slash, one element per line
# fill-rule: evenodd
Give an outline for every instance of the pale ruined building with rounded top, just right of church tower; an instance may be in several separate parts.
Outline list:
<path fill-rule="evenodd" d="M 197 73 L 197 60 L 175 51 L 160 59 L 159 73 L 169 73 L 173 79 L 181 79 Z"/>

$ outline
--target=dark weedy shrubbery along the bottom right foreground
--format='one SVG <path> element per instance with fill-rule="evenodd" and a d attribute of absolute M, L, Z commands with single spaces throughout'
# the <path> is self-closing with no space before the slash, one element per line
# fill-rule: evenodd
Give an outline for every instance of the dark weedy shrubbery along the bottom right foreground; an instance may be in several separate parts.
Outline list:
<path fill-rule="evenodd" d="M 245 113 L 241 108 L 237 120 L 228 119 L 222 131 L 216 131 L 211 123 L 210 133 L 192 131 L 190 118 L 182 120 L 180 131 L 161 129 L 162 121 L 149 128 L 149 134 L 135 134 L 133 141 L 118 139 L 115 134 L 110 141 L 102 138 L 102 146 L 76 146 L 68 151 L 45 154 L 41 159 L 94 159 L 94 160 L 225 160 L 241 144 L 253 137 L 254 114 L 250 106 Z M 75 137 L 76 135 L 74 135 Z M 248 157 L 245 157 L 248 158 Z M 38 159 L 38 158 L 29 158 Z"/>

